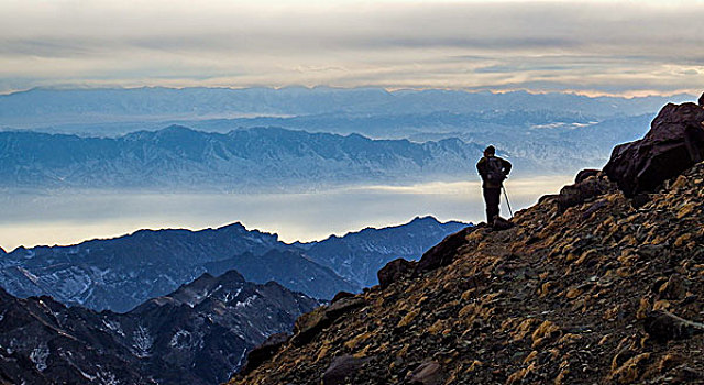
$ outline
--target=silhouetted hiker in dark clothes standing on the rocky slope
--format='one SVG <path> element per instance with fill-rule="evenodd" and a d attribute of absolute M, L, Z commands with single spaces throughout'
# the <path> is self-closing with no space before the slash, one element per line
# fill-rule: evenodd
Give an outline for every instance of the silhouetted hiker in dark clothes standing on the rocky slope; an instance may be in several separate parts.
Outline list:
<path fill-rule="evenodd" d="M 476 164 L 476 170 L 482 176 L 482 191 L 484 193 L 488 226 L 493 226 L 494 220 L 498 217 L 502 186 L 512 167 L 508 161 L 502 160 L 495 154 L 496 148 L 490 145 L 484 150 L 484 156 Z"/>

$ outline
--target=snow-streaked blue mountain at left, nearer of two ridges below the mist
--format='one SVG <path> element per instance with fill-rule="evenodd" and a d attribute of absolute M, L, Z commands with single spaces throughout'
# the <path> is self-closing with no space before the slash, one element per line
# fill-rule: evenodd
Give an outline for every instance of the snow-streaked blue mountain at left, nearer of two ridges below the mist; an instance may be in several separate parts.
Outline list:
<path fill-rule="evenodd" d="M 278 251 L 286 251 L 285 257 Z M 130 310 L 211 270 L 220 274 L 238 268 L 249 280 L 276 279 L 316 298 L 360 289 L 276 234 L 240 223 L 201 231 L 140 230 L 70 246 L 19 248 L 4 255 L 0 266 L 0 286 L 12 295 L 51 295 L 64 304 L 114 311 Z"/>

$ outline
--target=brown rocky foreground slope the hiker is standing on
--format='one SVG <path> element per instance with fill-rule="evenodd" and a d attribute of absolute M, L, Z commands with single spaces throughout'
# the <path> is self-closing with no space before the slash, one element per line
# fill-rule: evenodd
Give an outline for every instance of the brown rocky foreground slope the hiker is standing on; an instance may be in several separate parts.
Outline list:
<path fill-rule="evenodd" d="M 231 384 L 704 383 L 702 109 L 666 107 L 654 151 L 615 151 L 617 180 L 581 173 L 507 230 L 480 224 L 393 261 Z"/>

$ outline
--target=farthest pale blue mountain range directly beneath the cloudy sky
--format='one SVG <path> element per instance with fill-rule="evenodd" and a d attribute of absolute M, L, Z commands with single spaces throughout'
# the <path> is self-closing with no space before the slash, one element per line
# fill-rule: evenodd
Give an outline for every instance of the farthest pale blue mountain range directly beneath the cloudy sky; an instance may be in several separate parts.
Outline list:
<path fill-rule="evenodd" d="M 38 128 L 62 123 L 155 121 L 348 113 L 375 116 L 553 110 L 586 117 L 636 116 L 657 111 L 672 97 L 587 97 L 526 91 L 395 90 L 382 88 L 34 88 L 0 96 L 0 124 Z"/>

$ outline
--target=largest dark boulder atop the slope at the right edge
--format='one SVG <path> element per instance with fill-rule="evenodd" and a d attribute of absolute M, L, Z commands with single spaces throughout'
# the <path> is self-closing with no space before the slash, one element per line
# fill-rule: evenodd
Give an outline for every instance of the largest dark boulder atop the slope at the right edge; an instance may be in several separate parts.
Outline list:
<path fill-rule="evenodd" d="M 695 103 L 662 108 L 641 140 L 618 145 L 604 167 L 627 197 L 652 193 L 664 180 L 704 160 L 704 108 Z"/>

